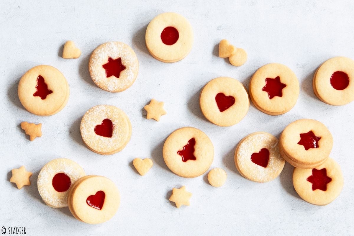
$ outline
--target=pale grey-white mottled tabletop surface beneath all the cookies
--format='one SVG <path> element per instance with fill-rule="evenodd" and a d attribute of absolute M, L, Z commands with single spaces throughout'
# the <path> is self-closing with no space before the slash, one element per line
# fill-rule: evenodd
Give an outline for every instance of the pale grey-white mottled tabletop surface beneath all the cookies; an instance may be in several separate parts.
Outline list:
<path fill-rule="evenodd" d="M 221 3 L 224 2 L 224 3 Z M 348 1 L 1 1 L 0 103 L 1 218 L 0 227 L 26 227 L 28 235 L 354 235 L 354 103 L 332 107 L 313 94 L 315 69 L 333 56 L 354 58 L 353 2 Z M 145 47 L 145 29 L 162 12 L 182 14 L 194 29 L 194 46 L 181 62 L 155 60 Z M 249 56 L 242 67 L 217 57 L 218 42 L 228 39 Z M 79 59 L 61 58 L 65 41 L 82 51 Z M 106 41 L 131 45 L 139 59 L 139 75 L 128 90 L 109 93 L 91 80 L 88 59 Z M 199 109 L 201 88 L 218 76 L 240 80 L 247 88 L 257 68 L 283 63 L 298 76 L 300 96 L 287 114 L 269 116 L 251 105 L 237 125 L 223 128 L 205 120 Z M 22 107 L 17 84 L 39 64 L 58 68 L 70 85 L 70 99 L 58 114 L 39 117 Z M 151 98 L 165 102 L 160 122 L 145 119 Z M 82 115 L 97 104 L 124 110 L 132 123 L 126 148 L 111 156 L 93 153 L 81 141 Z M 290 122 L 317 119 L 334 138 L 333 157 L 342 167 L 344 188 L 330 205 L 314 206 L 298 197 L 292 186 L 292 167 L 279 178 L 253 183 L 234 166 L 235 146 L 251 132 L 279 136 Z M 43 123 L 43 136 L 30 142 L 19 127 L 22 121 Z M 178 177 L 162 159 L 165 138 L 176 128 L 204 131 L 215 147 L 211 167 L 221 167 L 228 179 L 221 188 L 207 183 L 206 174 Z M 87 174 L 112 179 L 121 192 L 113 219 L 100 225 L 76 220 L 68 208 L 46 206 L 36 179 L 48 161 L 67 157 Z M 141 177 L 132 167 L 135 157 L 150 157 L 153 168 Z M 8 180 L 11 169 L 24 165 L 34 174 L 32 185 L 18 190 Z M 177 209 L 168 201 L 173 187 L 186 185 L 191 205 Z"/>

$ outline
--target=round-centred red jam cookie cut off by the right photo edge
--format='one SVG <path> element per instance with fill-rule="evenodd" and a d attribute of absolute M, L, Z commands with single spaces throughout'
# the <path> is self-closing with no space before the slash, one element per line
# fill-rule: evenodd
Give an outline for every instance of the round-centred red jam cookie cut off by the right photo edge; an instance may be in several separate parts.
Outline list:
<path fill-rule="evenodd" d="M 354 60 L 333 57 L 316 70 L 313 90 L 316 96 L 330 105 L 345 105 L 354 100 Z"/>

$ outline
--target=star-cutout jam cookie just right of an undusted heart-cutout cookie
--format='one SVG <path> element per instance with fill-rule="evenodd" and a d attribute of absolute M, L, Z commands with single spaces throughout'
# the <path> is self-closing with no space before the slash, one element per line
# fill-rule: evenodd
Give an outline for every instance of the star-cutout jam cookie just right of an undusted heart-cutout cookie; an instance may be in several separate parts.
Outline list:
<path fill-rule="evenodd" d="M 281 115 L 290 111 L 296 104 L 299 91 L 295 73 L 279 63 L 259 68 L 253 74 L 249 88 L 252 102 L 268 115 Z"/>

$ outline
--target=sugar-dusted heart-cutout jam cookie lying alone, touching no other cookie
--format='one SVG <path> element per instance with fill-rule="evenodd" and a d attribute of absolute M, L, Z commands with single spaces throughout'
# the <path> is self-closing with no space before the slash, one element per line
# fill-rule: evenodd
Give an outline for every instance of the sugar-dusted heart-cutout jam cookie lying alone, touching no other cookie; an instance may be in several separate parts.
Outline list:
<path fill-rule="evenodd" d="M 130 140 L 131 130 L 128 116 L 111 105 L 90 108 L 80 125 L 81 137 L 86 146 L 102 155 L 121 151 Z"/>

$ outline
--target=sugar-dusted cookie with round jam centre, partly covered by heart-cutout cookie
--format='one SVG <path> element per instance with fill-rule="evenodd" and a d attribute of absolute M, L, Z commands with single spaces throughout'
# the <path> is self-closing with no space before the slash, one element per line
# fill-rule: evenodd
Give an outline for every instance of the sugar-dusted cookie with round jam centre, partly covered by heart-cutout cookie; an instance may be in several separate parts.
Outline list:
<path fill-rule="evenodd" d="M 76 180 L 85 176 L 78 163 L 58 158 L 46 163 L 38 174 L 38 192 L 50 207 L 68 206 L 68 193 Z"/>

